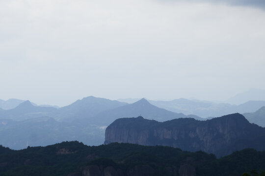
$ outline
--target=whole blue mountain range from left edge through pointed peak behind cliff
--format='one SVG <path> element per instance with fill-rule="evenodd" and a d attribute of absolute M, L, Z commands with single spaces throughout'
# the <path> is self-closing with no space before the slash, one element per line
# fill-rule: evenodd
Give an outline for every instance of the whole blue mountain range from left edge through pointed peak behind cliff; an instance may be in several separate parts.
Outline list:
<path fill-rule="evenodd" d="M 107 125 L 119 117 L 139 114 L 159 121 L 180 117 L 200 119 L 157 108 L 145 99 L 129 105 L 90 96 L 59 109 L 24 101 L 14 109 L 0 110 L 0 144 L 12 149 L 45 146 L 64 140 L 100 145 L 104 143 Z"/>

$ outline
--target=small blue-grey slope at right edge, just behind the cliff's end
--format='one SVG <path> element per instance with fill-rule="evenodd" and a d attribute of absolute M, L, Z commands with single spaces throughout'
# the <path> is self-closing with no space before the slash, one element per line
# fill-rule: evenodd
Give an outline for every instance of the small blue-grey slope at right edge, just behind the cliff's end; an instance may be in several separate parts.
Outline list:
<path fill-rule="evenodd" d="M 265 107 L 262 107 L 256 112 L 244 113 L 243 115 L 249 122 L 255 123 L 261 127 L 265 127 Z"/>

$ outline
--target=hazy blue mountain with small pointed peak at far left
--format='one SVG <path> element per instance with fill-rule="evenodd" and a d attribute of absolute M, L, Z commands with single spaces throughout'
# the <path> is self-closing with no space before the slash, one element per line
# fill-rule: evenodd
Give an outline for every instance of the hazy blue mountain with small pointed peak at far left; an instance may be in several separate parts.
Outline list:
<path fill-rule="evenodd" d="M 53 116 L 56 108 L 33 106 L 31 102 L 24 101 L 19 106 L 11 110 L 1 110 L 0 118 L 13 120 L 26 120 L 42 116 Z"/>

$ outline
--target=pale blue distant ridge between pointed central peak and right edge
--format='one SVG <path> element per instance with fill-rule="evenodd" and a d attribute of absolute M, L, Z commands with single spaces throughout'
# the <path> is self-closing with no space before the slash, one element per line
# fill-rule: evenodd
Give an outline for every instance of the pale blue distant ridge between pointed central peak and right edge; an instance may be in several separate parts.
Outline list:
<path fill-rule="evenodd" d="M 159 108 L 164 108 L 177 113 L 195 114 L 203 118 L 219 117 L 231 113 L 255 112 L 265 106 L 265 101 L 248 101 L 240 105 L 227 103 L 213 103 L 209 101 L 187 100 L 184 98 L 172 101 L 149 102 Z"/>

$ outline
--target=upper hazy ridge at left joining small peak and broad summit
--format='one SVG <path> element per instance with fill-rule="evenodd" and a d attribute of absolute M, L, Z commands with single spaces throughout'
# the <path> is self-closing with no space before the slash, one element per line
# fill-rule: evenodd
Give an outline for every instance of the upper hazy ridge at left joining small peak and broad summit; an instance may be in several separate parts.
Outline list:
<path fill-rule="evenodd" d="M 58 121 L 74 121 L 78 118 L 90 118 L 99 112 L 127 105 L 118 101 L 89 96 L 77 100 L 69 106 L 62 108 L 35 106 L 30 101 L 24 101 L 11 110 L 0 110 L 0 118 L 13 120 L 26 120 L 43 116 L 53 117 Z"/>

